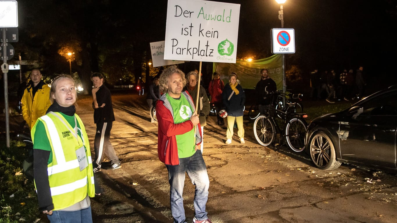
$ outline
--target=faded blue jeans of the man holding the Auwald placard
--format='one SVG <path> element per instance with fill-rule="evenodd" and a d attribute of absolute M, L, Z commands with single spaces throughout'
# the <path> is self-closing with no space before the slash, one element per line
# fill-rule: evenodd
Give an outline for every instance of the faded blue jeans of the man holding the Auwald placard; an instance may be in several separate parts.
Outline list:
<path fill-rule="evenodd" d="M 183 186 L 185 185 L 185 172 L 189 176 L 195 188 L 195 217 L 197 220 L 208 219 L 205 206 L 208 200 L 207 167 L 200 151 L 196 151 L 191 157 L 180 158 L 179 165 L 166 165 L 168 170 L 168 181 L 170 182 L 171 212 L 174 223 L 186 222 L 185 210 L 183 209 Z"/>

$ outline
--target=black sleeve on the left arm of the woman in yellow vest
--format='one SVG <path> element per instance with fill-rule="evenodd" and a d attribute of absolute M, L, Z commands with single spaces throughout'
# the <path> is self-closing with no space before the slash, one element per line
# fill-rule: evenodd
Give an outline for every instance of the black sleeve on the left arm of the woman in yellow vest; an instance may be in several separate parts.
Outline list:
<path fill-rule="evenodd" d="M 47 163 L 49 157 L 50 151 L 39 149 L 33 150 L 33 167 L 40 212 L 54 209 L 54 204 L 52 203 L 51 197 L 50 182 L 48 181 Z"/>

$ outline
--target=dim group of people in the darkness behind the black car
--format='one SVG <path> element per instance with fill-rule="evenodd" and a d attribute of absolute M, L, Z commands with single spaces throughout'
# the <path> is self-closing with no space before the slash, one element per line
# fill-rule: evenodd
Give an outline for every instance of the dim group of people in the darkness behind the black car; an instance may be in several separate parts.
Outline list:
<path fill-rule="evenodd" d="M 326 98 L 329 103 L 335 103 L 340 100 L 361 99 L 364 96 L 366 82 L 364 81 L 363 67 L 360 66 L 353 73 L 353 69 L 349 72 L 344 69 L 340 75 L 331 69 L 318 72 L 318 69 L 310 72 L 310 98 L 312 100 L 320 100 Z"/>

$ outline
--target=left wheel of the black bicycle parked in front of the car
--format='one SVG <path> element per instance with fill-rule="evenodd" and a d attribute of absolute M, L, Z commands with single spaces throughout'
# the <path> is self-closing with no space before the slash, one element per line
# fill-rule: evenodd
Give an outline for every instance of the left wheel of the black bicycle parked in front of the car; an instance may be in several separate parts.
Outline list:
<path fill-rule="evenodd" d="M 264 115 L 260 115 L 254 122 L 254 136 L 262 146 L 270 145 L 276 136 L 276 127 L 273 121 Z"/>

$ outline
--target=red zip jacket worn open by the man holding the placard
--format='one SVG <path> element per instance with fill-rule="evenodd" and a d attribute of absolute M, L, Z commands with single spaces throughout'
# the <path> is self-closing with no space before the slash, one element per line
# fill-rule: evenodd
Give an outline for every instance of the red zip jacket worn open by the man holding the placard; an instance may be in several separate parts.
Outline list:
<path fill-rule="evenodd" d="M 182 92 L 181 97 L 185 97 L 191 104 L 191 107 L 195 109 L 192 97 L 187 91 Z M 182 135 L 191 131 L 193 129 L 193 123 L 190 120 L 179 124 L 174 123 L 173 111 L 166 94 L 163 94 L 160 100 L 156 102 L 156 117 L 158 121 L 158 158 L 166 165 L 179 165 L 176 135 Z M 196 145 L 200 145 L 201 142 L 202 133 L 200 123 L 198 123 Z"/>

